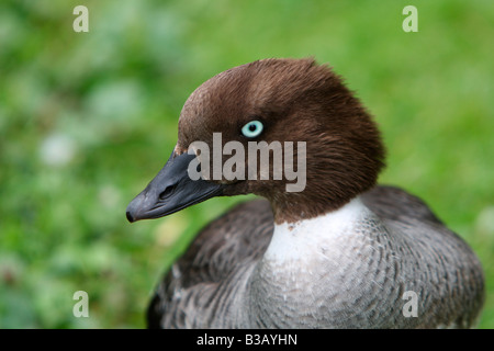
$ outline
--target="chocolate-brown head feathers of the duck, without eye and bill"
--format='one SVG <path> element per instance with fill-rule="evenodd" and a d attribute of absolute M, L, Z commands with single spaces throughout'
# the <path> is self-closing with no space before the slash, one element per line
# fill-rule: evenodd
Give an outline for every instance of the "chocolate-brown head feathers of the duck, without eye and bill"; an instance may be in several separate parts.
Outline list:
<path fill-rule="evenodd" d="M 252 120 L 265 125 L 257 141 L 306 143 L 304 191 L 287 192 L 284 178 L 229 182 L 224 191 L 267 197 L 277 223 L 340 207 L 372 188 L 384 165 L 379 131 L 366 109 L 328 66 L 313 59 L 263 59 L 211 78 L 183 106 L 176 150 L 197 140 L 211 145 L 213 133 L 222 133 L 223 145 L 237 140 L 247 149 L 250 139 L 240 129 Z"/>

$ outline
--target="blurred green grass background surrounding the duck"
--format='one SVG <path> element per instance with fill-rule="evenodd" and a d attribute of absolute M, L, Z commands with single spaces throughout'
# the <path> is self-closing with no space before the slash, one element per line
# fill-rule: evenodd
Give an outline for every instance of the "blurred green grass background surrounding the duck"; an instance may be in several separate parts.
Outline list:
<path fill-rule="evenodd" d="M 72 9 L 89 9 L 75 33 Z M 418 33 L 402 10 L 418 9 Z M 423 197 L 478 252 L 494 328 L 494 3 L 0 3 L 0 328 L 141 328 L 194 233 L 238 199 L 130 225 L 188 95 L 233 66 L 314 56 L 346 77 L 388 146 L 380 181 Z M 46 151 L 63 140 L 65 161 Z M 89 294 L 89 318 L 72 295 Z"/>

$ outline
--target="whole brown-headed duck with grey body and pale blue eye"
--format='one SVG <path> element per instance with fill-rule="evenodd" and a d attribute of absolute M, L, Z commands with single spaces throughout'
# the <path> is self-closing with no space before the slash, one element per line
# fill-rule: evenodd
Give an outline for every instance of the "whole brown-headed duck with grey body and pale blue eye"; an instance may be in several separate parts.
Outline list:
<path fill-rule="evenodd" d="M 214 149 L 228 143 L 229 155 Z M 233 150 L 249 143 L 303 145 L 281 151 L 296 165 L 284 160 L 288 170 L 303 170 L 303 186 L 290 191 L 288 171 L 274 177 L 283 165 L 273 149 L 268 168 L 247 157 L 233 162 Z M 211 176 L 214 162 L 228 160 L 238 177 Z M 147 326 L 475 327 L 484 302 L 480 260 L 423 200 L 378 184 L 384 166 L 377 123 L 327 64 L 268 58 L 206 80 L 182 107 L 171 156 L 126 217 L 257 196 L 197 235 L 157 284 Z"/>

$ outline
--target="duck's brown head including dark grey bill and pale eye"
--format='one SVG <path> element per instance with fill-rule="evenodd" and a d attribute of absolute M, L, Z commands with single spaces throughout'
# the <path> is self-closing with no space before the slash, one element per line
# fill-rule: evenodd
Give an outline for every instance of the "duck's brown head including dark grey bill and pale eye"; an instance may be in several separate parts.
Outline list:
<path fill-rule="evenodd" d="M 249 159 L 252 145 L 265 147 L 257 159 Z M 261 165 L 265 151 L 268 165 Z M 127 218 L 157 218 L 213 196 L 252 193 L 270 201 L 276 223 L 293 223 L 372 188 L 383 159 L 375 124 L 329 67 L 313 59 L 258 60 L 211 78 L 190 95 L 177 146 L 131 202 Z"/>

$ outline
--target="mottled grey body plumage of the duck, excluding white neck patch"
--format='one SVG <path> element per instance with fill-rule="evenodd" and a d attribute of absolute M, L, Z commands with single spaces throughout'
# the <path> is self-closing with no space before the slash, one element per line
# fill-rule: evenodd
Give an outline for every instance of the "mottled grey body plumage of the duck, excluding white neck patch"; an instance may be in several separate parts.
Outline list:
<path fill-rule="evenodd" d="M 263 259 L 273 233 L 267 201 L 237 205 L 210 223 L 166 274 L 148 308 L 149 327 L 474 326 L 484 280 L 468 245 L 400 189 L 375 186 L 361 200 L 372 215 L 356 226 L 337 261 L 310 274 Z M 406 292 L 416 294 L 416 317 L 406 313 Z"/>

